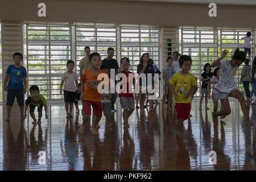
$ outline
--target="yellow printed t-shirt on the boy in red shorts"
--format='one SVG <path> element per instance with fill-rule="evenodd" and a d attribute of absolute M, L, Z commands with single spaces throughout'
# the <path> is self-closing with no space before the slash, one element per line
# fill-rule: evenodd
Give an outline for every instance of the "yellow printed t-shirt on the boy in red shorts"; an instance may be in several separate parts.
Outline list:
<path fill-rule="evenodd" d="M 175 93 L 177 94 L 176 103 L 190 103 L 191 96 L 185 98 L 185 94 L 191 90 L 192 86 L 196 86 L 196 77 L 193 76 L 191 73 L 188 75 L 183 76 L 180 73 L 175 73 L 169 80 L 170 84 L 174 86 Z"/>

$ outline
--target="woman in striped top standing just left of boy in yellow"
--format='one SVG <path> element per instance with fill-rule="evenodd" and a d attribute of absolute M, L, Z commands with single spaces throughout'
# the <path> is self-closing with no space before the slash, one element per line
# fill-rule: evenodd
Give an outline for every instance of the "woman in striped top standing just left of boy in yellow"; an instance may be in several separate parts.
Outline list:
<path fill-rule="evenodd" d="M 174 67 L 172 66 L 172 57 L 168 57 L 167 58 L 167 65 L 164 66 L 163 68 L 163 78 L 165 81 L 164 84 L 164 96 L 163 96 L 163 103 L 166 101 L 166 97 L 168 96 L 168 106 L 167 109 L 170 109 L 171 107 L 171 103 L 172 103 L 172 93 L 171 93 L 171 89 L 170 89 L 170 83 L 169 83 L 169 79 L 174 75 Z"/>

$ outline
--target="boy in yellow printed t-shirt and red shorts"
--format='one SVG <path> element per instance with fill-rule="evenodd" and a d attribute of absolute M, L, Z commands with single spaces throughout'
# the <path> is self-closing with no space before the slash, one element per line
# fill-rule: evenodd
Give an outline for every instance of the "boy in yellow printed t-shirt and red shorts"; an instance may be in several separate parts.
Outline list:
<path fill-rule="evenodd" d="M 196 78 L 191 73 L 192 59 L 190 56 L 180 56 L 179 64 L 181 71 L 175 73 L 169 80 L 171 86 L 170 89 L 174 93 L 175 108 L 177 111 L 177 119 L 179 122 L 189 118 L 191 110 L 191 95 L 196 89 Z"/>

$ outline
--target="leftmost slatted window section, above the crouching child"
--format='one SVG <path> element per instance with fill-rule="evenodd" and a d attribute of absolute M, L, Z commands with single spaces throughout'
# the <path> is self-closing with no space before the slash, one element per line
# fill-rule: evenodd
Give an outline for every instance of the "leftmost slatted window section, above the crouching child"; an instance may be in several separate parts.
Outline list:
<path fill-rule="evenodd" d="M 28 86 L 38 85 L 49 100 L 59 94 L 61 75 L 71 59 L 71 26 L 68 24 L 27 24 Z"/>

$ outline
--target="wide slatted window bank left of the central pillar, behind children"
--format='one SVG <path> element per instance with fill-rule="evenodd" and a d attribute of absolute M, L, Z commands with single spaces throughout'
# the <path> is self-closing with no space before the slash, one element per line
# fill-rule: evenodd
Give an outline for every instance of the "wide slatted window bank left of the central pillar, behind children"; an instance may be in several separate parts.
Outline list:
<path fill-rule="evenodd" d="M 142 53 L 148 52 L 159 65 L 159 28 L 115 24 L 65 24 L 27 23 L 26 67 L 28 86 L 36 84 L 49 100 L 62 99 L 59 94 L 61 75 L 66 71 L 68 59 L 75 60 L 75 71 L 79 73 L 79 62 L 85 56 L 84 47 L 91 52 L 107 56 L 108 47 L 115 49 L 114 59 L 122 56 L 131 60 L 131 70 L 136 72 Z"/>

